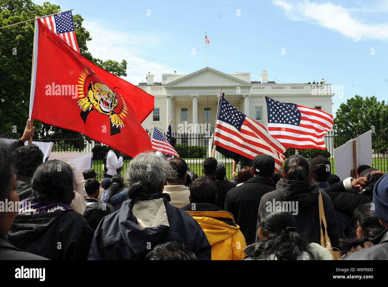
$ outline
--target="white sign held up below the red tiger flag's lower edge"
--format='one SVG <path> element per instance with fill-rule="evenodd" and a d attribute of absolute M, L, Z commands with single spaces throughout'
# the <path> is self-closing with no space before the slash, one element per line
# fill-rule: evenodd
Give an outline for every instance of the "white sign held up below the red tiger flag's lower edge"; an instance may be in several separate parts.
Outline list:
<path fill-rule="evenodd" d="M 49 160 L 64 160 L 74 165 L 77 182 L 83 180 L 82 172 L 92 168 L 93 153 L 51 153 Z"/>

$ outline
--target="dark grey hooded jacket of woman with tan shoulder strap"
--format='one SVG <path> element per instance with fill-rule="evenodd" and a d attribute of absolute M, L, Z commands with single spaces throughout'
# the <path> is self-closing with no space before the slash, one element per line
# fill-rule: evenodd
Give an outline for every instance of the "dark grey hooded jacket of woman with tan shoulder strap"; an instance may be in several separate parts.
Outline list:
<path fill-rule="evenodd" d="M 321 193 L 331 245 L 338 248 L 340 233 L 338 231 L 336 212 L 333 204 L 331 204 L 330 197 L 324 192 Z M 298 233 L 300 233 L 309 243 L 315 242 L 320 244 L 318 196 L 319 188 L 311 181 L 301 182 L 281 178 L 276 184 L 276 190 L 267 193 L 262 197 L 259 214 L 270 212 L 271 209 L 268 207 L 273 206 L 274 200 L 275 202 L 294 202 L 295 207 L 296 203 L 298 203 L 296 212 L 288 210 L 294 215 L 296 231 L 298 231 Z"/>

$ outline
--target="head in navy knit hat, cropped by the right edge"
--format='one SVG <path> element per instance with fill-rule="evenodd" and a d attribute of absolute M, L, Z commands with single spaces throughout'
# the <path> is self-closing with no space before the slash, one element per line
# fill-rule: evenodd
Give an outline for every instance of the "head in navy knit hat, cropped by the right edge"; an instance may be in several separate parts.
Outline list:
<path fill-rule="evenodd" d="M 373 188 L 374 215 L 381 226 L 388 228 L 388 172 L 384 174 Z"/>

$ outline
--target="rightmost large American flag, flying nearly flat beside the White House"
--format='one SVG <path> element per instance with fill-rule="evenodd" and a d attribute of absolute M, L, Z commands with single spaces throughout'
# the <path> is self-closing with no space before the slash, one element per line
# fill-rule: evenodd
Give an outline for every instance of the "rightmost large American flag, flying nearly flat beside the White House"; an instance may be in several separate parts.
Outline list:
<path fill-rule="evenodd" d="M 265 103 L 268 132 L 284 146 L 325 149 L 324 135 L 333 127 L 332 115 L 269 97 Z"/>

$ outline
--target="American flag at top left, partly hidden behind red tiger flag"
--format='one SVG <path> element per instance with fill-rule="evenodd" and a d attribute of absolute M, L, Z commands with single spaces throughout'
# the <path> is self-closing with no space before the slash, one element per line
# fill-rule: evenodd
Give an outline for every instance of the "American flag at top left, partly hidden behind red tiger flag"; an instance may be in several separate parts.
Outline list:
<path fill-rule="evenodd" d="M 71 10 L 40 17 L 38 19 L 40 19 L 40 21 L 48 26 L 49 29 L 57 34 L 62 40 L 68 43 L 71 48 L 76 50 L 78 53 L 80 52 L 77 39 L 75 37 L 73 15 L 71 14 Z"/>

